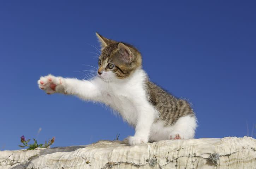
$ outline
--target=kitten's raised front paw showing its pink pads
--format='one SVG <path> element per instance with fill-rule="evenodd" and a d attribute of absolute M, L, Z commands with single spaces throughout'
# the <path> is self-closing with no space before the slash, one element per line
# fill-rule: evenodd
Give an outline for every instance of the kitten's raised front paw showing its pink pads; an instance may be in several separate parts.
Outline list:
<path fill-rule="evenodd" d="M 64 93 L 64 79 L 62 77 L 55 77 L 49 74 L 41 77 L 38 80 L 39 88 L 44 90 L 48 95 L 53 93 Z"/>

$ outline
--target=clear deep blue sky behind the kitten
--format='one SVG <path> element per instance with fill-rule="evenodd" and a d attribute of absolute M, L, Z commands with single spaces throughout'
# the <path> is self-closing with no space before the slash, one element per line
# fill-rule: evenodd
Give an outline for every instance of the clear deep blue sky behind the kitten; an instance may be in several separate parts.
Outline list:
<path fill-rule="evenodd" d="M 40 76 L 97 66 L 95 32 L 135 45 L 150 79 L 187 98 L 195 138 L 243 137 L 256 123 L 255 1 L 1 1 L 0 150 L 20 136 L 53 147 L 133 135 L 100 104 L 46 95 Z M 42 128 L 40 134 L 38 129 Z M 254 131 L 256 133 L 256 129 Z M 255 138 L 255 136 L 254 136 Z"/>

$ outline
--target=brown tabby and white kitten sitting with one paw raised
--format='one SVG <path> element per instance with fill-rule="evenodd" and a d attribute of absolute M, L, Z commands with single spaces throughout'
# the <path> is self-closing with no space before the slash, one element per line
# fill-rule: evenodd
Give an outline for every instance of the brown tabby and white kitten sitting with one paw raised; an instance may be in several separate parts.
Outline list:
<path fill-rule="evenodd" d="M 78 80 L 49 74 L 38 80 L 40 89 L 110 106 L 135 128 L 130 145 L 193 138 L 197 120 L 189 103 L 149 81 L 135 47 L 96 35 L 102 47 L 97 76 Z"/>

